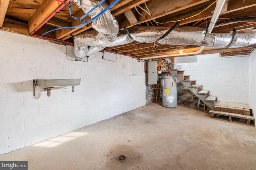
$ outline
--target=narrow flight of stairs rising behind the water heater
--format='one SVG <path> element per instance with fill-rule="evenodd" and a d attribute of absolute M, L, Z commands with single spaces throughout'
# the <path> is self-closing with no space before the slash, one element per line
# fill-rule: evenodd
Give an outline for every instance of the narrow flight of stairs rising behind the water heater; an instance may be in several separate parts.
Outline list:
<path fill-rule="evenodd" d="M 210 109 L 213 109 L 214 103 L 217 101 L 217 96 L 210 96 L 210 91 L 203 90 L 202 85 L 196 84 L 196 80 L 190 80 L 190 75 L 185 75 L 184 70 L 171 69 L 170 73 L 199 98 L 199 109 L 205 110 L 206 106 L 210 107 Z"/>

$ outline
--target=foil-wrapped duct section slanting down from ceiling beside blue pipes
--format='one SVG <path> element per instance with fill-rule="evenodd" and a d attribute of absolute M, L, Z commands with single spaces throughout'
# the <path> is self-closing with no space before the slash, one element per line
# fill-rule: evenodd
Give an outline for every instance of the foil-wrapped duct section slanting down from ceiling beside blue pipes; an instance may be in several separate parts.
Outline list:
<path fill-rule="evenodd" d="M 94 6 L 97 6 L 100 1 L 98 0 L 72 0 L 78 8 L 82 8 L 84 13 L 89 12 Z M 106 2 L 98 6 L 95 10 L 93 10 L 89 16 L 90 18 L 95 17 L 100 12 L 102 12 L 108 5 Z M 119 25 L 114 16 L 111 15 L 110 10 L 104 12 L 97 19 L 92 21 L 92 27 L 100 33 L 112 35 L 117 35 L 119 31 Z"/>

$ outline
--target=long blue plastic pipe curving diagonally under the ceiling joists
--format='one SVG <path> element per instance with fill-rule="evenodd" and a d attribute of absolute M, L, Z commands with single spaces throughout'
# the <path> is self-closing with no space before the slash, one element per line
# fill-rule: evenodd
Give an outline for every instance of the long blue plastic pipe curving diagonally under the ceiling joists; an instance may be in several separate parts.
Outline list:
<path fill-rule="evenodd" d="M 102 1 L 103 1 L 103 0 L 102 0 Z M 101 1 L 100 3 L 103 3 L 102 1 Z M 119 2 L 119 1 L 120 1 L 120 0 L 115 0 L 115 1 L 112 2 L 107 8 L 105 8 L 102 12 L 100 12 L 98 15 L 96 15 L 94 18 L 91 18 L 90 20 L 85 21 L 84 23 L 81 23 L 81 24 L 76 25 L 76 26 L 74 26 L 74 27 L 59 27 L 59 28 L 55 28 L 55 29 L 52 29 L 52 30 L 50 30 L 50 31 L 47 31 L 46 33 L 43 33 L 41 36 L 44 36 L 45 34 L 50 33 L 50 32 L 52 32 L 52 31 L 56 31 L 56 30 L 58 30 L 58 29 L 73 29 L 73 28 L 82 27 L 82 26 L 84 26 L 84 25 L 90 23 L 91 21 L 97 19 L 99 16 L 101 16 L 102 14 L 104 14 L 104 12 L 106 12 L 107 10 L 109 10 L 112 6 L 114 6 L 114 5 L 115 5 L 117 2 Z M 100 4 L 100 3 L 99 3 L 99 4 Z M 97 6 L 94 7 L 94 8 L 97 8 Z M 90 11 L 91 11 L 91 10 L 90 10 Z M 86 14 L 88 14 L 88 12 L 87 12 Z"/>

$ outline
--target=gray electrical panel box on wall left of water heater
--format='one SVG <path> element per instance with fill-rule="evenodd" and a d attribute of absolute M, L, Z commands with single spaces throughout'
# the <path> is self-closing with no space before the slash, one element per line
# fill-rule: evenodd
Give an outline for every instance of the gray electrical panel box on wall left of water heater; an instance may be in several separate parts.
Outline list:
<path fill-rule="evenodd" d="M 157 84 L 157 61 L 148 61 L 148 84 Z"/>

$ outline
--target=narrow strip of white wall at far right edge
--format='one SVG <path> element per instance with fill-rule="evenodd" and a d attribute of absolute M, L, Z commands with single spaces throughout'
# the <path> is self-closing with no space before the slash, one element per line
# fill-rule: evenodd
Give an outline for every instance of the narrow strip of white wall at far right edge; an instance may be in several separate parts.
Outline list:
<path fill-rule="evenodd" d="M 249 60 L 249 105 L 254 111 L 254 117 L 256 118 L 256 50 L 252 51 Z"/>

